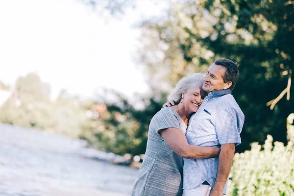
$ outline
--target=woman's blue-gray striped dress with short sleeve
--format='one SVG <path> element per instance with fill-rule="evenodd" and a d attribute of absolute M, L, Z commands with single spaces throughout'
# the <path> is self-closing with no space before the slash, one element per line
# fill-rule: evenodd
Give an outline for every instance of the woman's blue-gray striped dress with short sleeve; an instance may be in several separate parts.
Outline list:
<path fill-rule="evenodd" d="M 178 128 L 185 133 L 187 126 L 171 107 L 155 114 L 149 125 L 147 149 L 132 196 L 182 196 L 183 159 L 158 133 L 165 128 Z"/>

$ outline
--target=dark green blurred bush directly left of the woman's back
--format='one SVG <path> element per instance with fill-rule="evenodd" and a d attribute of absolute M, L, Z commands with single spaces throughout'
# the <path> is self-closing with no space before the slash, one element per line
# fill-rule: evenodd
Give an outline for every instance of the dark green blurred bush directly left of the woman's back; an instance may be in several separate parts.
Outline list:
<path fill-rule="evenodd" d="M 108 95 L 106 95 L 108 94 Z M 98 118 L 85 127 L 88 137 L 83 137 L 92 142 L 99 149 L 117 154 L 130 153 L 132 155 L 144 154 L 147 144 L 147 132 L 149 123 L 161 107 L 160 98 L 138 97 L 145 105 L 144 109 L 138 110 L 134 103 L 117 92 L 110 93 L 111 97 L 118 100 L 107 100 L 109 92 L 98 98 L 100 103 L 93 103 L 88 110 L 96 111 L 95 105 L 105 106 L 106 110 L 100 112 Z M 159 94 L 160 95 L 160 94 Z M 102 95 L 99 95 L 101 97 Z M 94 136 L 94 138 L 93 138 Z"/>

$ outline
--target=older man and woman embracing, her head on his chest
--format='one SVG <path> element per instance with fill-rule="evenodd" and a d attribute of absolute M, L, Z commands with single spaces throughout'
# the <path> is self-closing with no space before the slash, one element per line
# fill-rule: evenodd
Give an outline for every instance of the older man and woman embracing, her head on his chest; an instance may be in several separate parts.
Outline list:
<path fill-rule="evenodd" d="M 182 78 L 152 118 L 132 196 L 222 196 L 245 116 L 232 89 L 238 64 L 218 59 Z M 200 107 L 201 105 L 201 107 Z"/>

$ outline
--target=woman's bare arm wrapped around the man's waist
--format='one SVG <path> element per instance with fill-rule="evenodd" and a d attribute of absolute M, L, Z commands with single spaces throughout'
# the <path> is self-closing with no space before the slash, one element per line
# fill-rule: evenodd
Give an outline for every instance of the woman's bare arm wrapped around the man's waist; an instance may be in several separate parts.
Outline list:
<path fill-rule="evenodd" d="M 183 131 L 177 128 L 162 129 L 159 133 L 172 150 L 183 158 L 201 159 L 218 157 L 221 151 L 219 147 L 189 145 Z"/>

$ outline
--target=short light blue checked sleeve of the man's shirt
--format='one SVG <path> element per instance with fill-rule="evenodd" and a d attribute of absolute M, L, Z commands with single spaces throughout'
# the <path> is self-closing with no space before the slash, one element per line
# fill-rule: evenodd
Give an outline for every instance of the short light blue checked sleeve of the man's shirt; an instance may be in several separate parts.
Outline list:
<path fill-rule="evenodd" d="M 232 107 L 222 107 L 217 116 L 216 132 L 220 144 L 241 144 L 240 118 Z M 243 124 L 242 124 L 243 126 Z M 242 128 L 241 128 L 242 129 Z"/>

